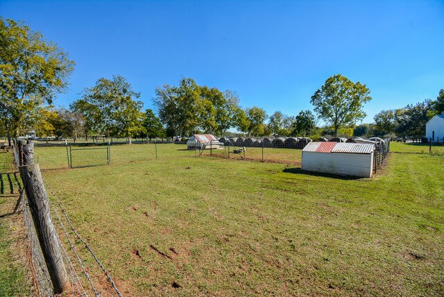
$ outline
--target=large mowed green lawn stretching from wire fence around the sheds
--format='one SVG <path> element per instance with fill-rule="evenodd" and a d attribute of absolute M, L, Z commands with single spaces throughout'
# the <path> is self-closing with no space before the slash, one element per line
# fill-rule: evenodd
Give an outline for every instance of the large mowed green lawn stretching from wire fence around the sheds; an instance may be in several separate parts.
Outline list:
<path fill-rule="evenodd" d="M 169 158 L 139 160 L 146 147 L 112 147 L 129 162 L 44 171 L 126 296 L 444 294 L 443 156 L 393 153 L 355 179 L 173 144 Z M 45 150 L 42 168 L 58 168 Z"/>

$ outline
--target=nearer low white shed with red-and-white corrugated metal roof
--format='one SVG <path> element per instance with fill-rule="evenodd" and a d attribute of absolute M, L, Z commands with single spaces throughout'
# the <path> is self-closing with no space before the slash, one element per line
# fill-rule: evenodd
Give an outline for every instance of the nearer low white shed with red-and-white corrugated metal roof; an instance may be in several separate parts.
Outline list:
<path fill-rule="evenodd" d="M 375 144 L 310 142 L 302 149 L 302 170 L 370 178 Z"/>

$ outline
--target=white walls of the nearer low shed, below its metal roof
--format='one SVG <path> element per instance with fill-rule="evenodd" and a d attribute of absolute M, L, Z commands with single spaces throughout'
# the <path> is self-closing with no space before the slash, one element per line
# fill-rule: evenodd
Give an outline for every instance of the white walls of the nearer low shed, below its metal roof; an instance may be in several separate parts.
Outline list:
<path fill-rule="evenodd" d="M 314 153 L 302 151 L 302 170 L 370 178 L 373 153 Z"/>

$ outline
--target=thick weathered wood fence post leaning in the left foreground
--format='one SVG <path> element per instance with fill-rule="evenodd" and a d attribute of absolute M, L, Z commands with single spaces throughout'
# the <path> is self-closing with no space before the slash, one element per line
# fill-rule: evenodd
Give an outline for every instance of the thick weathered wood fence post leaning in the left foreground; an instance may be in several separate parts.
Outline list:
<path fill-rule="evenodd" d="M 56 228 L 51 219 L 49 200 L 43 185 L 39 164 L 34 164 L 34 144 L 23 146 L 24 164 L 19 167 L 24 190 L 28 197 L 31 216 L 42 248 L 44 261 L 53 283 L 54 293 L 60 294 L 71 287 L 63 263 Z"/>

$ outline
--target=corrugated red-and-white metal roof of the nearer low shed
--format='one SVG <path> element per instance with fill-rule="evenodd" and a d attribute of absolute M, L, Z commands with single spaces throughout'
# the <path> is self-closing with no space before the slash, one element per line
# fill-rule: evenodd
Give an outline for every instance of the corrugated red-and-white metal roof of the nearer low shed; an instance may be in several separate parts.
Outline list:
<path fill-rule="evenodd" d="M 375 144 L 353 144 L 347 142 L 310 142 L 302 151 L 315 153 L 372 153 Z"/>

